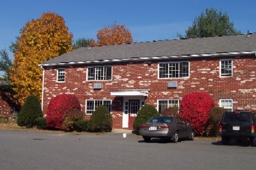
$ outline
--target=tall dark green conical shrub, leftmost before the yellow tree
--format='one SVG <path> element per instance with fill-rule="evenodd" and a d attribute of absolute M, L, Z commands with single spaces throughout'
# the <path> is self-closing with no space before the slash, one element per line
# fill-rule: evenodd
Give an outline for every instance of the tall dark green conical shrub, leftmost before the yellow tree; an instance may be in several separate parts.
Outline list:
<path fill-rule="evenodd" d="M 28 96 L 17 117 L 17 125 L 32 128 L 38 117 L 42 117 L 41 104 L 36 96 Z"/>

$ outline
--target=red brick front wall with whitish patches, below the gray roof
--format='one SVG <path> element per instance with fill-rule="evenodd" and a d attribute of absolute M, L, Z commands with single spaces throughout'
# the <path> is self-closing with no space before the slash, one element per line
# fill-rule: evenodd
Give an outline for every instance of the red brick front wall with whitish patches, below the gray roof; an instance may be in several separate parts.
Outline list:
<path fill-rule="evenodd" d="M 219 77 L 219 58 L 186 59 L 190 62 L 189 78 L 158 79 L 158 62 L 126 62 L 112 65 L 111 81 L 86 81 L 86 66 L 66 67 L 65 82 L 56 82 L 56 68 L 45 68 L 43 111 L 52 96 L 62 93 L 76 95 L 85 111 L 86 99 L 111 99 L 113 128 L 122 128 L 122 97 L 110 96 L 119 89 L 150 89 L 148 104 L 157 107 L 157 99 L 182 99 L 189 92 L 207 92 L 219 106 L 219 99 L 233 99 L 233 110 L 256 111 L 256 60 L 250 57 L 233 58 L 233 77 Z M 227 59 L 232 59 L 227 58 Z M 172 60 L 173 61 L 173 60 Z M 177 88 L 167 88 L 168 81 L 177 81 Z M 93 89 L 101 82 L 102 89 Z M 87 118 L 90 117 L 87 115 Z"/>

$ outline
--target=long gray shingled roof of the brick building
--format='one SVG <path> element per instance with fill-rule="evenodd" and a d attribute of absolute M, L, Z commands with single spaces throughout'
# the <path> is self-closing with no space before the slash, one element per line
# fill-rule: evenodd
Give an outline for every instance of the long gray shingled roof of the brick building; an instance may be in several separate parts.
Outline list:
<path fill-rule="evenodd" d="M 79 48 L 40 66 L 256 53 L 256 34 Z"/>

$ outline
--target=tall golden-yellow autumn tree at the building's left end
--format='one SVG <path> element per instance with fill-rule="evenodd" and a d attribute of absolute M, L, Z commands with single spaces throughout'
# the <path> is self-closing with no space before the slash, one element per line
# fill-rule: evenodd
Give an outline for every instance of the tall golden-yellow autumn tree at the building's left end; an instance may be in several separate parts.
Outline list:
<path fill-rule="evenodd" d="M 9 70 L 10 84 L 20 104 L 29 95 L 41 99 L 42 68 L 38 64 L 73 50 L 73 34 L 67 31 L 63 17 L 52 12 L 29 21 L 20 31 Z"/>

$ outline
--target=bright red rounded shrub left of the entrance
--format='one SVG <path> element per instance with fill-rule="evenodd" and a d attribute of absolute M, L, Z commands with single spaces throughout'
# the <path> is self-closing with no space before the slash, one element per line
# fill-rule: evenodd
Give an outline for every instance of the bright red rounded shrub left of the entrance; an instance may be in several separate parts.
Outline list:
<path fill-rule="evenodd" d="M 65 116 L 73 108 L 81 110 L 80 102 L 74 95 L 58 95 L 53 97 L 47 108 L 47 126 L 61 129 Z"/>

